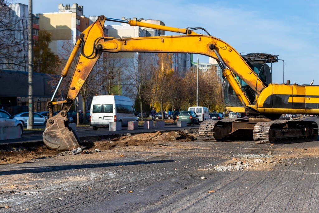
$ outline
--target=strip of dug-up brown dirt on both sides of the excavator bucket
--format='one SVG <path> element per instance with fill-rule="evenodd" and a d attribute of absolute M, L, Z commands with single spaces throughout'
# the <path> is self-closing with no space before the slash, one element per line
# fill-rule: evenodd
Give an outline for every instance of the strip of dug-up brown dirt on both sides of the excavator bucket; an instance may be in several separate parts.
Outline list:
<path fill-rule="evenodd" d="M 169 141 L 194 141 L 197 137 L 196 133 L 189 133 L 184 131 L 171 131 L 167 133 L 140 133 L 131 135 L 128 133 L 113 139 L 105 139 L 100 141 L 84 141 L 88 147 L 77 154 L 90 154 L 95 153 L 96 150 L 111 150 L 115 147 L 128 147 L 128 146 L 165 146 Z M 169 146 L 169 145 L 168 145 Z M 61 150 L 49 149 L 44 145 L 39 144 L 26 144 L 24 146 L 2 146 L 0 149 L 0 164 L 18 164 L 25 163 L 31 159 L 47 158 L 54 156 L 63 156 L 72 154 L 69 151 L 62 152 Z"/>

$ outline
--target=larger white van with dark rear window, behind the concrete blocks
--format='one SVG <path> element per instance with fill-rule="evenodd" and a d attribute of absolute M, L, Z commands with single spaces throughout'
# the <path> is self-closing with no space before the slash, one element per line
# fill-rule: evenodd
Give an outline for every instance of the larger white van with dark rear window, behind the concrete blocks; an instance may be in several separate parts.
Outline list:
<path fill-rule="evenodd" d="M 90 126 L 93 130 L 109 126 L 110 122 L 119 121 L 127 126 L 129 121 L 138 121 L 135 109 L 129 97 L 120 95 L 96 95 L 90 108 Z"/>

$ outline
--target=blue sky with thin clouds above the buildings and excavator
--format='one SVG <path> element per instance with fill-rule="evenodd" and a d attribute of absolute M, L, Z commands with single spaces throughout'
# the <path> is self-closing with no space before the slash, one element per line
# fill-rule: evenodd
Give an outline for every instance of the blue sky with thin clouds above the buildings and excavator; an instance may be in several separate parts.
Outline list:
<path fill-rule="evenodd" d="M 28 4 L 28 0 L 13 2 Z M 33 0 L 33 13 L 57 12 L 59 3 L 83 5 L 87 17 L 137 17 L 161 20 L 170 27 L 203 27 L 239 53 L 279 55 L 285 61 L 285 81 L 309 84 L 315 80 L 319 85 L 319 1 Z M 200 62 L 207 63 L 208 58 L 200 57 Z M 273 65 L 272 82 L 283 83 L 282 62 Z"/>

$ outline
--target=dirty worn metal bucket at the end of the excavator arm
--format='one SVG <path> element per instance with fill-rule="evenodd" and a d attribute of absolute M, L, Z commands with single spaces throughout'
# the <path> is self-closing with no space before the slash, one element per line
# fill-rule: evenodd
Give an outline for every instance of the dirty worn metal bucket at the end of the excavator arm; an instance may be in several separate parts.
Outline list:
<path fill-rule="evenodd" d="M 46 146 L 58 150 L 72 150 L 80 147 L 79 139 L 69 126 L 65 111 L 49 118 L 43 132 L 43 142 Z"/>

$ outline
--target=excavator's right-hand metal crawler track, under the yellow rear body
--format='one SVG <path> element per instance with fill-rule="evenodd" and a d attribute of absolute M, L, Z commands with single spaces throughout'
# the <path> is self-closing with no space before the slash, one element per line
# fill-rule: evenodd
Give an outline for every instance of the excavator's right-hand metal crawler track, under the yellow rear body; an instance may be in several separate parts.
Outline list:
<path fill-rule="evenodd" d="M 317 123 L 300 119 L 258 122 L 253 130 L 254 141 L 264 144 L 314 141 L 317 136 Z"/>

